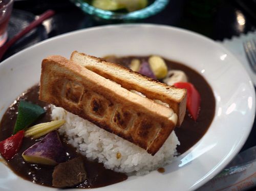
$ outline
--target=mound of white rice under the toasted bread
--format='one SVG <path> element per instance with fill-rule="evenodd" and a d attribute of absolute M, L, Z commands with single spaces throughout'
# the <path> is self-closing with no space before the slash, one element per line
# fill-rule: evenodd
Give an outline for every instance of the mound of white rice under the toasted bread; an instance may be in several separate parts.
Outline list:
<path fill-rule="evenodd" d="M 161 149 L 152 156 L 131 142 L 109 133 L 60 107 L 52 107 L 53 120 L 65 119 L 59 129 L 68 136 L 68 142 L 89 159 L 97 159 L 107 169 L 129 175 L 144 175 L 168 164 L 176 154 L 179 140 L 173 131 Z M 120 158 L 117 158 L 120 153 Z"/>

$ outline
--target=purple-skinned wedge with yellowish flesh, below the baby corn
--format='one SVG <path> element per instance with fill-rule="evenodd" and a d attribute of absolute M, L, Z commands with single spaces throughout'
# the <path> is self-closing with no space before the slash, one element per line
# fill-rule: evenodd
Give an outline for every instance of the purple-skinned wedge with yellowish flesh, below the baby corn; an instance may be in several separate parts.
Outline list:
<path fill-rule="evenodd" d="M 56 165 L 66 161 L 66 150 L 61 144 L 57 131 L 52 131 L 40 142 L 24 151 L 22 156 L 30 163 Z"/>

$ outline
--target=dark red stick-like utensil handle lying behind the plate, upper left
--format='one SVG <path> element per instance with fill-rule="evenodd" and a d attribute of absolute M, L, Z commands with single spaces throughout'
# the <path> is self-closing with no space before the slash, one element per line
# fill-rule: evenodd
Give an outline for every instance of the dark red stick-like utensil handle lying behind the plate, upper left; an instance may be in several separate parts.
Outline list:
<path fill-rule="evenodd" d="M 18 39 L 22 38 L 24 35 L 29 33 L 32 29 L 40 25 L 43 21 L 46 19 L 52 17 L 55 14 L 53 10 L 48 10 L 44 13 L 42 13 L 37 19 L 32 21 L 28 27 L 26 27 L 24 30 L 20 31 L 18 34 L 16 34 L 12 39 L 10 39 L 7 43 L 5 43 L 3 46 L 0 47 L 0 60 L 4 56 L 5 52 L 9 49 L 11 45 L 13 45 Z"/>

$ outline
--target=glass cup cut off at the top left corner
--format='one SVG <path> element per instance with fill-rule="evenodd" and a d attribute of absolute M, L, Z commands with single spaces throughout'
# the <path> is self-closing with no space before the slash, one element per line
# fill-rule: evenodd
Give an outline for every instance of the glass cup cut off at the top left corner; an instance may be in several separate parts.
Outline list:
<path fill-rule="evenodd" d="M 2 46 L 8 37 L 7 26 L 12 12 L 14 0 L 0 0 L 0 46 Z"/>

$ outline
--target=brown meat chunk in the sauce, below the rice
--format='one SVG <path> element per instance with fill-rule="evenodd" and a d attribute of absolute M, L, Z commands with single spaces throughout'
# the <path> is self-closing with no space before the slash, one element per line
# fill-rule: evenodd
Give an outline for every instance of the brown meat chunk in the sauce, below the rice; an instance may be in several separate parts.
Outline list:
<path fill-rule="evenodd" d="M 58 188 L 71 187 L 86 180 L 86 177 L 83 160 L 77 157 L 55 166 L 52 174 L 52 184 Z"/>

